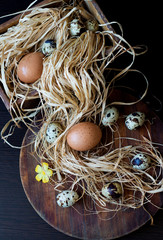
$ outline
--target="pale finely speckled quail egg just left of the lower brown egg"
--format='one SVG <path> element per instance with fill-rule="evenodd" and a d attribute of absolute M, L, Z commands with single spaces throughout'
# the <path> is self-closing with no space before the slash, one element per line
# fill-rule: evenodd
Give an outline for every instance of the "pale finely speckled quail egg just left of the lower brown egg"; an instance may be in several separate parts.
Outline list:
<path fill-rule="evenodd" d="M 48 143 L 55 142 L 62 132 L 63 130 L 59 123 L 57 122 L 50 123 L 46 130 L 46 141 Z"/>

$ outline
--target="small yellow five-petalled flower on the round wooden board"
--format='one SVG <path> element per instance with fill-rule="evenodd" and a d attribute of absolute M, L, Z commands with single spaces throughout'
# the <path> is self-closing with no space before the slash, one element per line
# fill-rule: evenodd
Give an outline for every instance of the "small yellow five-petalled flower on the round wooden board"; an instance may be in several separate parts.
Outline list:
<path fill-rule="evenodd" d="M 53 171 L 49 169 L 49 164 L 43 162 L 42 166 L 37 165 L 35 168 L 35 172 L 38 174 L 36 175 L 36 180 L 40 182 L 41 180 L 43 183 L 49 182 L 49 178 L 53 175 Z"/>

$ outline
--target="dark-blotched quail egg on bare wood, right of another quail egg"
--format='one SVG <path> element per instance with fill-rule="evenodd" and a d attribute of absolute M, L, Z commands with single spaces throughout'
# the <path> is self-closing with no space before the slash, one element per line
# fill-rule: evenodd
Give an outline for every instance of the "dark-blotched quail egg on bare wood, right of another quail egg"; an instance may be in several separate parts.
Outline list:
<path fill-rule="evenodd" d="M 129 114 L 126 117 L 126 127 L 129 130 L 135 130 L 138 127 L 141 127 L 145 122 L 145 114 L 142 112 L 134 112 Z"/>

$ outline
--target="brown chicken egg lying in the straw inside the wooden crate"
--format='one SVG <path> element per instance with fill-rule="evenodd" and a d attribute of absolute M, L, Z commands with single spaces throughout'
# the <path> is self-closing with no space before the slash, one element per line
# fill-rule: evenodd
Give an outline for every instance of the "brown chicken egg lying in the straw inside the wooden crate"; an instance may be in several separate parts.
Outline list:
<path fill-rule="evenodd" d="M 33 52 L 25 55 L 18 64 L 17 75 L 24 83 L 34 83 L 42 74 L 43 57 L 40 52 Z"/>

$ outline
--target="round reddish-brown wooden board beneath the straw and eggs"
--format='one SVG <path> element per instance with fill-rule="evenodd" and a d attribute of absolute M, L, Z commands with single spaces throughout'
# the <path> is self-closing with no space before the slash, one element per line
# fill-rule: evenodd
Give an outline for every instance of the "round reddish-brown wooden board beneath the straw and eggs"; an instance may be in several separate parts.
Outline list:
<path fill-rule="evenodd" d="M 124 92 L 115 92 L 111 95 L 111 101 L 135 101 L 135 97 Z M 151 134 L 152 141 L 163 143 L 163 123 L 143 102 L 131 106 L 118 106 L 120 118 L 117 122 L 121 136 L 134 137 L 142 140 L 142 136 L 148 137 L 147 130 Z M 125 127 L 125 115 L 135 111 L 142 111 L 146 114 L 149 121 L 135 131 L 130 131 Z M 151 124 L 152 122 L 152 124 Z M 33 140 L 33 134 L 28 130 L 23 141 L 23 145 L 29 144 Z M 131 140 L 123 140 L 124 145 L 133 145 Z M 159 147 L 163 154 L 163 147 Z M 83 207 L 82 199 L 75 204 L 75 208 L 60 208 L 56 204 L 57 192 L 49 183 L 44 184 L 35 180 L 35 167 L 40 162 L 34 156 L 33 144 L 22 148 L 20 153 L 20 176 L 24 191 L 36 212 L 55 229 L 81 239 L 114 239 L 135 231 L 150 220 L 149 212 L 152 216 L 157 212 L 157 205 L 163 204 L 163 195 L 153 195 L 151 201 L 153 204 L 145 204 L 143 207 L 133 210 L 120 210 L 114 216 L 113 213 L 100 213 L 87 215 Z M 94 204 L 90 199 L 85 199 L 87 206 L 94 209 Z M 77 210 L 77 211 L 76 211 Z M 80 214 L 78 213 L 80 212 Z"/>

